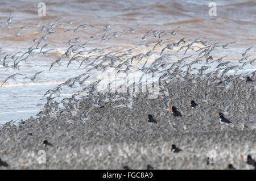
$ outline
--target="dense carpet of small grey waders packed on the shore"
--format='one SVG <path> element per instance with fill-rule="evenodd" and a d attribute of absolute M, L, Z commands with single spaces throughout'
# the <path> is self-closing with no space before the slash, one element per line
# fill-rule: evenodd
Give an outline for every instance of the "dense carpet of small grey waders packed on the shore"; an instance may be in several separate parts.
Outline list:
<path fill-rule="evenodd" d="M 162 81 L 158 98 L 134 94 L 132 108 L 118 107 L 125 99 L 114 99 L 125 93 L 94 108 L 87 98 L 63 107 L 51 103 L 37 117 L 2 126 L 0 157 L 9 167 L 0 169 L 226 169 L 229 163 L 253 169 L 246 157 L 256 157 L 255 83 L 233 78 L 226 88 L 214 87 L 214 79 Z M 199 107 L 191 108 L 191 100 Z M 167 111 L 171 106 L 182 117 Z M 232 123 L 221 124 L 218 112 Z M 158 124 L 147 122 L 149 113 Z M 172 153 L 172 144 L 183 151 Z M 46 151 L 46 163 L 39 164 L 39 150 Z M 207 165 L 210 150 L 217 153 L 214 165 Z"/>

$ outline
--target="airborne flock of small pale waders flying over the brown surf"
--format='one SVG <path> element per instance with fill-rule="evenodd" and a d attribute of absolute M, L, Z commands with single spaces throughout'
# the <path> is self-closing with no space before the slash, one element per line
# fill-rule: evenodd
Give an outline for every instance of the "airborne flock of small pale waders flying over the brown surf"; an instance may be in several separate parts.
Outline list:
<path fill-rule="evenodd" d="M 1 29 L 11 29 L 12 18 L 13 18 L 13 16 L 11 16 L 11 14 L 10 14 L 9 19 L 7 19 L 6 22 L 1 24 L 0 30 Z M 64 27 L 67 24 L 71 25 L 72 23 L 73 22 L 67 22 L 64 24 Z M 29 57 L 34 57 L 34 56 L 42 55 L 42 54 L 47 56 L 47 53 L 57 50 L 57 48 L 56 49 L 47 49 L 49 46 L 57 47 L 56 45 L 54 45 L 52 43 L 46 43 L 44 45 L 42 43 L 46 42 L 47 38 L 49 36 L 51 36 L 53 33 L 57 33 L 57 30 L 55 30 L 55 28 L 60 27 L 62 24 L 63 23 L 60 22 L 60 19 L 57 19 L 53 22 L 49 22 L 49 23 L 45 24 L 44 26 L 42 26 L 40 31 L 38 33 L 36 33 L 36 35 L 45 33 L 44 35 L 42 35 L 41 37 L 36 37 L 35 39 L 31 40 L 34 42 L 34 44 L 31 47 L 28 47 L 27 49 L 23 49 L 18 52 L 15 52 L 14 54 L 9 54 L 9 53 L 3 52 L 3 48 L 6 46 L 1 47 L 0 48 L 0 57 L 3 57 L 3 58 L 1 58 L 1 64 L 2 64 L 3 68 L 6 68 L 5 71 L 9 70 L 10 68 L 12 68 L 14 70 L 19 70 L 20 64 L 22 62 L 26 63 L 29 60 Z M 68 31 L 78 32 L 79 30 L 86 30 L 86 28 L 88 26 L 94 27 L 92 24 L 81 24 L 81 25 L 77 26 L 77 28 L 69 28 L 68 30 L 65 30 L 64 32 L 68 32 Z M 170 62 L 167 62 L 169 60 L 169 58 L 176 56 L 175 54 L 164 54 L 164 52 L 166 52 L 168 49 L 172 50 L 175 47 L 179 47 L 180 45 L 181 46 L 177 50 L 177 52 L 184 49 L 184 54 L 183 54 L 184 57 L 181 58 L 180 60 L 178 60 L 177 62 L 171 62 L 172 65 L 168 69 L 163 69 L 162 71 L 159 71 L 159 73 L 163 73 L 163 72 L 167 73 L 167 72 L 170 72 L 171 70 L 173 70 L 174 73 L 176 73 L 175 70 L 181 69 L 183 67 L 187 67 L 187 71 L 186 71 L 187 74 L 185 74 L 185 76 L 195 75 L 195 74 L 191 74 L 191 71 L 193 71 L 193 70 L 197 70 L 198 71 L 197 75 L 202 76 L 204 71 L 207 70 L 208 68 L 210 68 L 210 66 L 201 66 L 201 69 L 197 69 L 197 68 L 191 69 L 191 66 L 194 64 L 200 64 L 200 62 L 203 62 L 205 59 L 207 64 L 209 61 L 211 61 L 209 64 L 218 62 L 218 65 L 215 68 L 216 71 L 214 71 L 212 74 L 218 74 L 222 70 L 221 79 L 223 79 L 224 75 L 230 70 L 238 71 L 238 70 L 243 69 L 243 67 L 247 64 L 250 64 L 250 65 L 255 64 L 255 60 L 256 60 L 255 58 L 253 60 L 250 60 L 248 58 L 248 56 L 246 56 L 247 52 L 253 47 L 250 47 L 250 48 L 246 49 L 245 52 L 240 53 L 242 55 L 241 60 L 239 60 L 241 65 L 232 65 L 233 63 L 230 61 L 222 61 L 222 59 L 228 55 L 220 57 L 220 58 L 216 58 L 216 60 L 213 60 L 213 56 L 210 55 L 210 53 L 212 53 L 214 49 L 216 49 L 218 47 L 227 49 L 228 45 L 234 44 L 234 43 L 236 43 L 236 41 L 226 43 L 223 45 L 219 45 L 220 43 L 208 44 L 207 41 L 201 40 L 201 39 L 203 39 L 203 37 L 199 37 L 198 39 L 188 39 L 188 37 L 184 37 L 184 38 L 180 39 L 179 41 L 177 41 L 176 43 L 167 43 L 167 40 L 170 40 L 170 38 L 162 39 L 164 36 L 167 36 L 169 34 L 171 34 L 172 36 L 175 36 L 176 30 L 178 30 L 180 27 L 175 28 L 171 32 L 166 32 L 166 31 L 162 31 L 162 30 L 147 31 L 146 33 L 144 33 L 144 35 L 142 37 L 135 37 L 135 38 L 139 38 L 143 41 L 146 41 L 146 39 L 148 39 L 150 36 L 152 36 L 152 37 L 155 37 L 155 39 L 157 39 L 157 40 L 154 42 L 141 43 L 141 44 L 135 45 L 134 48 L 131 48 L 128 50 L 120 50 L 120 51 L 117 50 L 117 51 L 112 51 L 112 52 L 108 52 L 108 53 L 104 52 L 104 50 L 106 50 L 106 49 L 100 49 L 100 48 L 86 50 L 86 44 L 92 43 L 93 41 L 96 41 L 98 39 L 100 39 L 100 42 L 101 42 L 101 41 L 110 40 L 110 39 L 112 39 L 112 37 L 119 37 L 119 36 L 125 35 L 125 33 L 129 33 L 129 32 L 134 33 L 136 30 L 136 27 L 139 26 L 139 24 L 137 24 L 136 26 L 134 26 L 132 28 L 125 28 L 119 32 L 109 32 L 111 30 L 112 26 L 114 26 L 114 25 L 108 24 L 108 25 L 102 27 L 100 31 L 94 33 L 89 38 L 88 37 L 86 37 L 86 38 L 85 37 L 75 37 L 75 38 L 68 40 L 68 42 L 65 43 L 68 45 L 71 45 L 71 44 L 72 45 L 70 47 L 68 47 L 65 50 L 65 53 L 62 54 L 59 58 L 57 58 L 57 60 L 52 62 L 52 64 L 49 66 L 49 71 L 53 67 L 55 67 L 56 64 L 60 65 L 61 62 L 63 62 L 64 58 L 68 58 L 67 68 L 70 64 L 72 64 L 73 61 L 77 61 L 77 62 L 80 62 L 79 68 L 81 68 L 82 64 L 85 64 L 85 62 L 86 62 L 87 65 L 85 66 L 84 69 L 86 69 L 88 67 L 90 67 L 90 69 L 86 70 L 86 73 L 83 73 L 83 74 L 79 75 L 78 77 L 72 78 L 68 82 L 65 82 L 64 84 L 59 85 L 57 87 L 61 87 L 64 85 L 71 86 L 72 84 L 74 84 L 74 82 L 79 82 L 80 78 L 82 78 L 84 75 L 88 75 L 90 73 L 90 71 L 95 70 L 95 69 L 101 70 L 102 73 L 104 73 L 104 71 L 107 70 L 108 68 L 115 68 L 115 70 L 117 70 L 117 74 L 119 74 L 119 73 L 129 74 L 129 72 L 131 70 L 133 70 L 133 71 L 140 70 L 143 73 L 158 71 L 159 68 L 166 68 L 167 65 L 170 64 Z M 40 23 L 35 24 L 35 25 L 23 26 L 23 27 L 19 28 L 18 32 L 16 32 L 15 35 L 20 36 L 21 31 L 22 32 L 27 31 L 28 28 L 30 28 L 30 27 L 38 28 L 38 27 L 40 27 Z M 100 34 L 100 33 L 102 33 L 102 34 Z M 89 40 L 86 41 L 85 43 L 78 44 L 79 41 L 81 41 L 81 39 L 89 39 Z M 187 44 L 186 44 L 186 42 L 187 42 Z M 40 45 L 41 45 L 41 47 L 40 47 Z M 145 54 L 139 53 L 139 54 L 134 54 L 133 56 L 131 56 L 131 54 L 133 53 L 133 50 L 138 49 L 139 47 L 142 47 L 142 46 L 149 47 L 150 45 L 154 45 L 154 46 L 152 47 L 151 50 L 149 50 Z M 201 45 L 201 46 L 199 47 L 199 45 Z M 10 46 L 10 45 L 8 45 L 8 46 Z M 148 60 L 151 58 L 151 56 L 153 54 L 158 53 L 158 51 L 156 50 L 156 47 L 159 47 L 160 50 L 162 49 L 160 52 L 160 57 L 156 58 L 151 63 L 151 65 L 149 67 L 146 67 L 147 61 L 144 63 L 144 65 L 142 66 L 141 69 L 139 69 L 135 65 L 133 65 L 133 62 L 135 60 L 138 60 L 137 63 L 139 63 L 141 60 L 143 60 L 143 59 Z M 161 48 L 161 47 L 163 47 L 163 48 Z M 191 56 L 185 57 L 185 54 L 188 52 L 188 50 L 194 50 L 196 48 L 197 48 L 196 52 L 199 52 L 197 58 L 195 58 L 194 61 L 187 63 L 186 60 L 188 58 L 190 58 Z M 89 54 L 92 54 L 92 53 L 94 53 L 94 54 L 89 56 Z M 9 64 L 7 64 L 7 61 L 13 61 L 13 62 L 11 63 L 11 65 L 9 65 Z M 34 76 L 24 77 L 24 79 L 27 78 L 27 79 L 30 79 L 32 82 L 35 82 L 36 78 L 38 78 L 38 76 L 42 72 L 43 71 L 39 71 L 39 72 L 35 73 Z M 16 81 L 16 77 L 18 75 L 23 75 L 23 74 L 15 73 L 15 74 L 10 75 L 2 82 L 1 86 L 3 86 L 10 79 L 13 79 L 14 81 Z M 241 74 L 241 76 L 242 75 L 243 74 Z M 161 78 L 163 78 L 163 77 L 161 77 Z M 246 81 L 252 82 L 252 79 L 250 77 L 247 77 Z M 81 84 L 81 85 L 83 85 L 83 84 Z"/>

